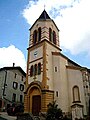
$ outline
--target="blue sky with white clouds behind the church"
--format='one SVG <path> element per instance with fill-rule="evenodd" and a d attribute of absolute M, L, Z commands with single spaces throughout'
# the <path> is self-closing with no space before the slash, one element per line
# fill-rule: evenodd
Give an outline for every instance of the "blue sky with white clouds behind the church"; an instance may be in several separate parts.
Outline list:
<path fill-rule="evenodd" d="M 58 26 L 60 48 L 90 69 L 90 0 L 0 0 L 0 68 L 26 72 L 29 28 L 43 10 Z"/>

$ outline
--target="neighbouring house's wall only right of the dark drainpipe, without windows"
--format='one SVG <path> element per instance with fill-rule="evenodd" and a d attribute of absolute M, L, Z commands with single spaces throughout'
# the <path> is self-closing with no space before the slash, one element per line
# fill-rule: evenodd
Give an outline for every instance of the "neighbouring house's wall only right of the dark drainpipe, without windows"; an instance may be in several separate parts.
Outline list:
<path fill-rule="evenodd" d="M 17 74 L 16 78 L 15 78 L 15 73 Z M 12 70 L 7 72 L 7 89 L 5 92 L 6 92 L 6 98 L 8 100 L 12 101 L 13 93 L 15 93 L 16 102 L 20 102 L 20 95 L 23 96 L 23 102 L 24 102 L 24 91 L 20 90 L 20 84 L 24 85 L 24 82 L 25 82 L 25 77 L 23 78 L 23 81 L 22 81 L 22 76 L 23 75 L 18 70 L 16 71 Z M 13 88 L 13 82 L 18 83 L 17 89 Z M 25 85 L 24 85 L 24 88 L 25 88 Z"/>

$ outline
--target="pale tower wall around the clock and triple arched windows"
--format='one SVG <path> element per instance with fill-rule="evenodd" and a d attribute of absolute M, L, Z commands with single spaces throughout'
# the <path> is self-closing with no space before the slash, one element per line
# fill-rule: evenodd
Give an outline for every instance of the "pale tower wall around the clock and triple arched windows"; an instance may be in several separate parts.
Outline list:
<path fill-rule="evenodd" d="M 33 49 L 29 53 L 29 68 L 28 68 L 28 84 L 30 84 L 33 81 L 40 81 L 42 82 L 42 75 L 43 73 L 41 72 L 40 75 L 35 75 L 30 77 L 30 68 L 32 65 L 41 63 L 43 65 L 43 47 L 39 46 L 36 49 Z M 43 66 L 42 66 L 42 71 L 43 71 Z"/>

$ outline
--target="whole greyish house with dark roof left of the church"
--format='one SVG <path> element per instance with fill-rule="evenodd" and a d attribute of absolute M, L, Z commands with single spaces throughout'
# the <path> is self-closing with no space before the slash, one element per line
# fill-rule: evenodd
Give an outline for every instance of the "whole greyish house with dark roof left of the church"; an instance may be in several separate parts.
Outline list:
<path fill-rule="evenodd" d="M 3 67 L 0 69 L 0 109 L 7 104 L 23 103 L 26 73 L 21 67 Z"/>

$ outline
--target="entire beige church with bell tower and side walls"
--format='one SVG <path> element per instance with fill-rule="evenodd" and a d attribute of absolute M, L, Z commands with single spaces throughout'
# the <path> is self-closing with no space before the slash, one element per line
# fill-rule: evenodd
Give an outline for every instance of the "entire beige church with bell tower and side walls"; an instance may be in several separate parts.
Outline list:
<path fill-rule="evenodd" d="M 64 114 L 83 118 L 90 107 L 90 69 L 62 54 L 59 29 L 43 10 L 30 28 L 25 112 L 39 115 L 56 101 Z"/>

